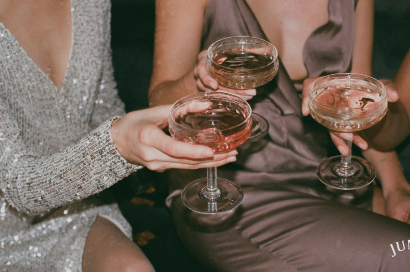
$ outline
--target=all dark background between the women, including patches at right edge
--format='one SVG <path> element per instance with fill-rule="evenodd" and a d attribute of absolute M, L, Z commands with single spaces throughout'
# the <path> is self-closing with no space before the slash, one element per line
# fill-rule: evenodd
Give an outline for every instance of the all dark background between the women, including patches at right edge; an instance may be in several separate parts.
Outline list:
<path fill-rule="evenodd" d="M 392 79 L 410 48 L 410 1 L 376 0 L 375 4 L 373 73 L 376 78 Z M 152 70 L 155 1 L 112 0 L 112 5 L 113 63 L 119 93 L 127 111 L 145 108 Z M 410 145 L 404 144 L 400 150 L 410 179 Z M 135 241 L 158 272 L 203 271 L 177 238 L 164 203 L 166 184 L 161 175 L 143 169 L 112 190 L 133 227 Z M 141 233 L 147 231 L 153 236 L 141 242 Z"/>

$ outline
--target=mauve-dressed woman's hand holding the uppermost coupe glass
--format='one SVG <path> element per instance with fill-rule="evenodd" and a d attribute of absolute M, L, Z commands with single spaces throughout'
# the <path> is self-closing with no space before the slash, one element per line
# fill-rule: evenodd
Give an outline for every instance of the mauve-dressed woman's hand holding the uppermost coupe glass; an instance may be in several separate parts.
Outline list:
<path fill-rule="evenodd" d="M 207 50 L 198 55 L 198 64 L 195 66 L 194 75 L 196 84 L 201 91 L 220 91 L 234 94 L 244 100 L 252 99 L 256 95 L 256 89 L 231 89 L 218 84 L 207 71 Z"/>

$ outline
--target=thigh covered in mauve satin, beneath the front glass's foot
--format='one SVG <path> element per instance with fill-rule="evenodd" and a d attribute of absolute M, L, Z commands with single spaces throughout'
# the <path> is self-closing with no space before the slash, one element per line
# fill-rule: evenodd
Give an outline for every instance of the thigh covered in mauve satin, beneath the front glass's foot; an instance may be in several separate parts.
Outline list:
<path fill-rule="evenodd" d="M 410 226 L 309 194 L 245 189 L 232 214 L 198 215 L 172 203 L 179 235 L 213 271 L 403 271 Z M 402 247 L 402 246 L 401 246 Z M 397 249 L 395 251 L 398 251 Z"/>

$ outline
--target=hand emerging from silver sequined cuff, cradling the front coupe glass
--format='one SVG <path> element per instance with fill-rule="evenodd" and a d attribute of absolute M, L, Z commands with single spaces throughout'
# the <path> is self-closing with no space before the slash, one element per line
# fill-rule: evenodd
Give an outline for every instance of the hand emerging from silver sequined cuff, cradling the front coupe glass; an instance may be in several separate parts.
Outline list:
<path fill-rule="evenodd" d="M 111 134 L 118 152 L 130 163 L 161 172 L 166 169 L 218 167 L 236 161 L 237 151 L 215 155 L 211 148 L 177 141 L 162 130 L 170 105 L 136 110 L 113 121 Z"/>

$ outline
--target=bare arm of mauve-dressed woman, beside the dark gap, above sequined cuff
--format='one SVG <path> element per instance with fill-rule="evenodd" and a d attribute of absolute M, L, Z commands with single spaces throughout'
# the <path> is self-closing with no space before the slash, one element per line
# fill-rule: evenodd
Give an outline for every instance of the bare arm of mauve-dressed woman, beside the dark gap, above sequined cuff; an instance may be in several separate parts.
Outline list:
<path fill-rule="evenodd" d="M 206 0 L 155 2 L 154 62 L 149 105 L 170 104 L 197 92 L 194 67 L 200 51 Z"/>

